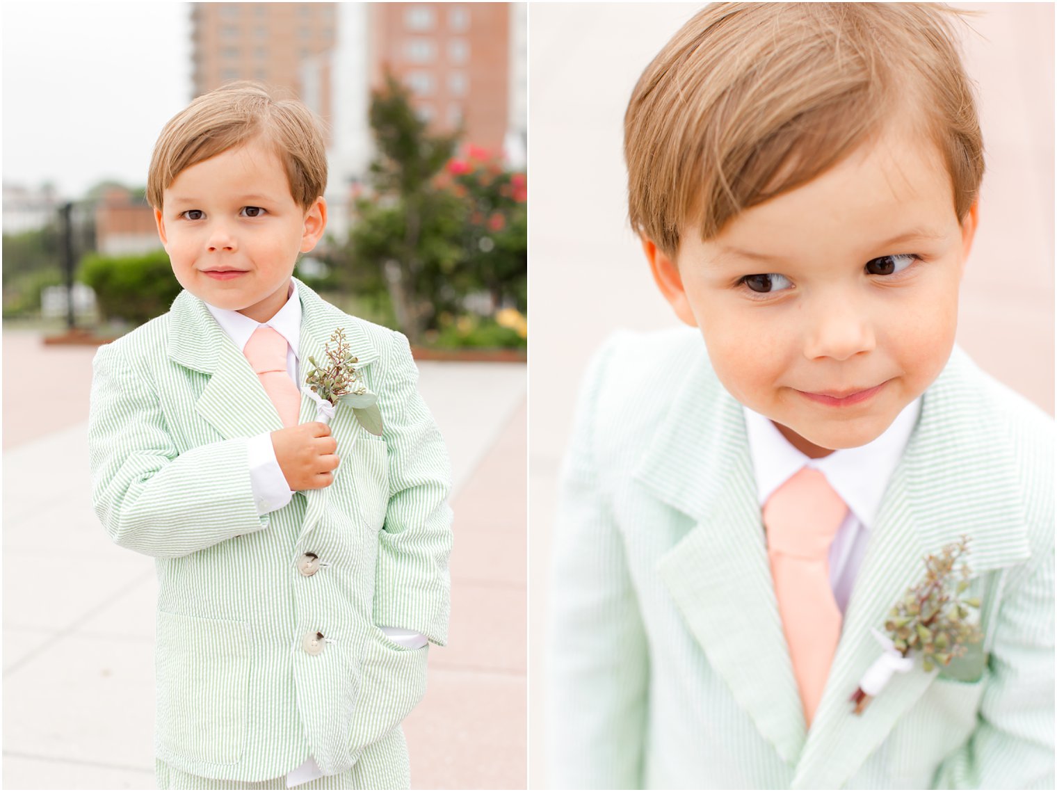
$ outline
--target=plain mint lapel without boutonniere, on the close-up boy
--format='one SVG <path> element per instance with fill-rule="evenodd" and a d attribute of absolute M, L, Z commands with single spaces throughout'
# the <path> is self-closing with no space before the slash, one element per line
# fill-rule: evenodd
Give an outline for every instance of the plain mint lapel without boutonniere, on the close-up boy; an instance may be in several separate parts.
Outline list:
<path fill-rule="evenodd" d="M 705 362 L 672 402 L 636 478 L 696 523 L 657 572 L 709 665 L 778 754 L 805 726 L 767 563 L 740 405 Z"/>

